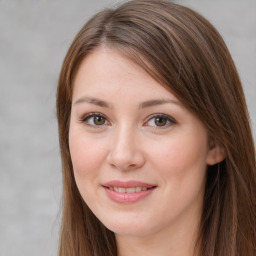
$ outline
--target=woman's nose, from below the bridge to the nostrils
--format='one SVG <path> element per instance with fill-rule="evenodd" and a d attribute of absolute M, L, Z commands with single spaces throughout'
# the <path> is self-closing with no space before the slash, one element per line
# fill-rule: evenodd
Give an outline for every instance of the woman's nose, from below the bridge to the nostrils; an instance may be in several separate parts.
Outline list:
<path fill-rule="evenodd" d="M 117 129 L 114 132 L 107 162 L 112 167 L 121 170 L 135 170 L 142 167 L 145 157 L 139 135 L 131 128 Z"/>

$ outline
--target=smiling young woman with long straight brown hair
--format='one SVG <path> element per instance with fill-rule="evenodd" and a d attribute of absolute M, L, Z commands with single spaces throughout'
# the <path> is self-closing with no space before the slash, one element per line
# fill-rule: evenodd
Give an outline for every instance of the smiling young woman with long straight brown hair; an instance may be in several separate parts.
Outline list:
<path fill-rule="evenodd" d="M 256 255 L 255 149 L 215 28 L 168 1 L 96 14 L 57 92 L 59 255 Z"/>

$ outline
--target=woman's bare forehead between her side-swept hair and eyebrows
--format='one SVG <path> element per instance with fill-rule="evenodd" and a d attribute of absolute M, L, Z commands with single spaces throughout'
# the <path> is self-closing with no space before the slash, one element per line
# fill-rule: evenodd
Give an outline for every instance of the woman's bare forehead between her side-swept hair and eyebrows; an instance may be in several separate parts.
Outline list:
<path fill-rule="evenodd" d="M 117 50 L 101 47 L 80 64 L 73 88 L 73 98 L 85 93 L 137 97 L 174 97 L 142 67 Z"/>

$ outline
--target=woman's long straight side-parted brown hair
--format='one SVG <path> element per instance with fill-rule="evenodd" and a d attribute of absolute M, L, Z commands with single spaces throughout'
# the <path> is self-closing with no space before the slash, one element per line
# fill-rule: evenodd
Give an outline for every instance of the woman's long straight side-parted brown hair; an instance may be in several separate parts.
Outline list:
<path fill-rule="evenodd" d="M 226 159 L 207 169 L 200 255 L 255 256 L 255 148 L 239 76 L 216 29 L 195 11 L 164 0 L 129 1 L 99 12 L 63 62 L 57 91 L 63 166 L 59 256 L 117 255 L 113 232 L 77 189 L 68 144 L 74 77 L 81 61 L 101 45 L 119 50 L 169 88 L 226 150 Z"/>

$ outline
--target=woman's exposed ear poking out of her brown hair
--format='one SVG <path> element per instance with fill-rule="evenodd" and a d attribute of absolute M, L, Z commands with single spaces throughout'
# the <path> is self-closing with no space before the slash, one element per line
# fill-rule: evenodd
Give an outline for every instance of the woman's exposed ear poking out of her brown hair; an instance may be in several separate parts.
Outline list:
<path fill-rule="evenodd" d="M 223 146 L 211 140 L 206 162 L 208 165 L 215 165 L 222 162 L 226 158 L 226 150 Z"/>

